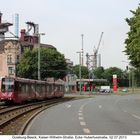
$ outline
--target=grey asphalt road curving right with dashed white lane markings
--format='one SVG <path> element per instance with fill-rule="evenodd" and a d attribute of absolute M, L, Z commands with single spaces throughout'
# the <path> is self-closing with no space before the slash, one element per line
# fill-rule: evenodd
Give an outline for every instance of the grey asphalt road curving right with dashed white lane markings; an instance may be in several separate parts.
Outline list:
<path fill-rule="evenodd" d="M 99 95 L 40 113 L 27 135 L 140 135 L 140 94 Z"/>

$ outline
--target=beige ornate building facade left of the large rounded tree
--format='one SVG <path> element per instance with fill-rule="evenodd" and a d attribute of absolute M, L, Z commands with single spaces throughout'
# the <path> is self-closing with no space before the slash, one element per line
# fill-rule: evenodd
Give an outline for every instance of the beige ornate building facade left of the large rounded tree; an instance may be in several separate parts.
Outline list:
<path fill-rule="evenodd" d="M 0 77 L 16 76 L 16 64 L 20 58 L 20 44 L 17 40 L 0 42 Z"/>

